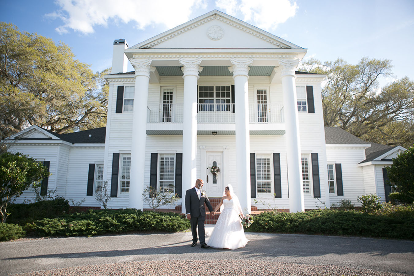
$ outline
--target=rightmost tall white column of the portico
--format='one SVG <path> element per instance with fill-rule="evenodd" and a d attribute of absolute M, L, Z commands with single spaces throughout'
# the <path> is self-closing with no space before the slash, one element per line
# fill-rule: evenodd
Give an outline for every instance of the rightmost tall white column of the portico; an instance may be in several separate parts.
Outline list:
<path fill-rule="evenodd" d="M 289 182 L 289 210 L 305 211 L 303 200 L 301 141 L 296 96 L 295 68 L 299 60 L 280 60 L 283 89 L 283 110 L 286 129 L 287 173 Z"/>

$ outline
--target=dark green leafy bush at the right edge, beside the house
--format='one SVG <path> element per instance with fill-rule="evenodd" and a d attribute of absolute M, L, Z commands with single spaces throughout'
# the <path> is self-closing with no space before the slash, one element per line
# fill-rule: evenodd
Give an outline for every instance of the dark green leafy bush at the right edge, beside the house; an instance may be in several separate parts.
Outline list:
<path fill-rule="evenodd" d="M 414 201 L 414 146 L 392 158 L 391 167 L 386 169 L 390 179 L 388 184 L 398 191 L 392 194 L 391 198 L 402 203 L 412 203 Z"/>

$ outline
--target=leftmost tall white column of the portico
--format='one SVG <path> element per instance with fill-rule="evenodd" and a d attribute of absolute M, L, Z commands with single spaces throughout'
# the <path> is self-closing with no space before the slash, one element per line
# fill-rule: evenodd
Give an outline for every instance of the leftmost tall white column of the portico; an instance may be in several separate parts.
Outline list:
<path fill-rule="evenodd" d="M 130 208 L 143 208 L 145 142 L 147 140 L 147 103 L 149 73 L 154 72 L 152 60 L 130 59 L 135 69 L 134 111 L 132 115 L 132 146 L 130 175 Z"/>

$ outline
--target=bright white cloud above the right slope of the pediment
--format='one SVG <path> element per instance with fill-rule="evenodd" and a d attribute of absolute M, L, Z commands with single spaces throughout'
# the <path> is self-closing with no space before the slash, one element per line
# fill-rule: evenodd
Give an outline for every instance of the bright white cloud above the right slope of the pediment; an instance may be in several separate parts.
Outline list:
<path fill-rule="evenodd" d="M 244 21 L 267 30 L 294 17 L 298 9 L 290 0 L 216 0 L 216 6 L 234 17 L 241 12 Z"/>

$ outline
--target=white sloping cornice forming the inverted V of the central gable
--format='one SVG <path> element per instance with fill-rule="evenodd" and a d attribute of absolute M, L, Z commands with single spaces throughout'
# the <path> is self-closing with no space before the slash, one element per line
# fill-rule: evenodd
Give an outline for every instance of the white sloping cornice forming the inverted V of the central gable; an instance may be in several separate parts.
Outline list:
<path fill-rule="evenodd" d="M 270 34 L 267 31 L 264 31 L 258 27 L 248 24 L 240 19 L 232 17 L 229 14 L 225 14 L 224 12 L 220 12 L 219 10 L 212 10 L 211 12 L 207 12 L 206 14 L 196 17 L 195 19 L 192 19 L 184 24 L 176 26 L 173 29 L 170 29 L 157 36 L 149 38 L 146 41 L 138 43 L 128 48 L 128 50 L 152 48 L 160 43 L 163 43 L 164 41 L 168 41 L 172 38 L 175 38 L 176 36 L 179 36 L 187 31 L 197 28 L 214 19 L 218 19 L 224 24 L 231 25 L 236 29 L 240 29 L 241 31 L 244 31 L 252 36 L 258 37 L 263 41 L 270 43 L 270 45 L 273 44 L 274 46 L 277 46 L 276 48 L 303 49 L 302 47 L 299 47 L 289 41 L 286 41 L 283 38 Z"/>

